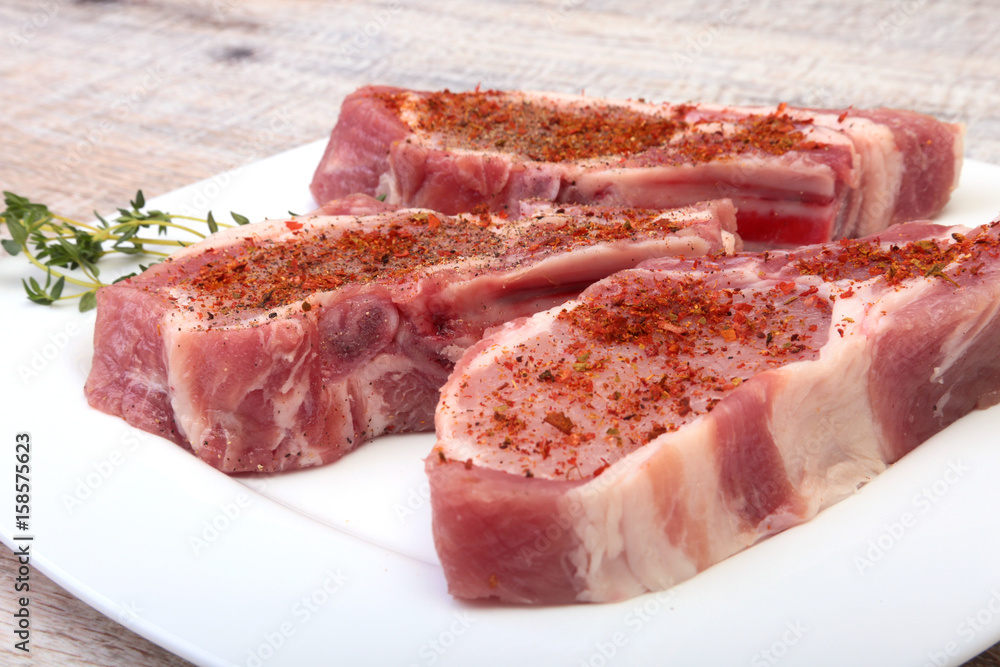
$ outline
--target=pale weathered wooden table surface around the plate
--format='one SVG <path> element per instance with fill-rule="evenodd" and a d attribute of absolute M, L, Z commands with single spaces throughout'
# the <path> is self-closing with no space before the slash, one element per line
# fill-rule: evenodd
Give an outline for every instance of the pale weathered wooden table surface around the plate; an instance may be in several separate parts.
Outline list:
<path fill-rule="evenodd" d="M 5 0 L 0 188 L 113 210 L 324 137 L 369 82 L 907 107 L 965 122 L 966 155 L 1000 163 L 998 27 L 975 0 Z M 186 664 L 39 573 L 20 655 L 0 552 L 0 663 Z"/>

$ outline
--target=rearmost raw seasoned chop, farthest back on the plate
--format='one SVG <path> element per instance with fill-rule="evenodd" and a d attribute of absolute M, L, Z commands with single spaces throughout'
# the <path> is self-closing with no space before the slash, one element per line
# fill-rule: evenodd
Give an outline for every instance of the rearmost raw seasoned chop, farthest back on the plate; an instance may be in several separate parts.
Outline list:
<path fill-rule="evenodd" d="M 934 216 L 958 184 L 962 136 L 894 109 L 366 87 L 344 100 L 312 192 L 445 213 L 534 198 L 669 208 L 728 197 L 748 247 L 791 247 Z"/>

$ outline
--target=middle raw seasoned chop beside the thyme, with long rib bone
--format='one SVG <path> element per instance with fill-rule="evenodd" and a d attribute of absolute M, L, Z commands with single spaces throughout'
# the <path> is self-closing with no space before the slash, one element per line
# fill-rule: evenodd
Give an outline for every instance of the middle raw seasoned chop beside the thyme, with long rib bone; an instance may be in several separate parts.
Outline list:
<path fill-rule="evenodd" d="M 357 195 L 215 234 L 98 292 L 87 398 L 227 473 L 328 463 L 429 430 L 488 327 L 649 258 L 739 247 L 728 201 L 525 208 L 450 217 Z"/>

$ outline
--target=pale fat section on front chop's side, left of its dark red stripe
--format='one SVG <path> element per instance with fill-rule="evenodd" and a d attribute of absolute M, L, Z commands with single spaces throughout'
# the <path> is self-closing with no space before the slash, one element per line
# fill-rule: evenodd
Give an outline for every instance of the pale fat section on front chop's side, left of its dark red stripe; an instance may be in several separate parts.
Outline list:
<path fill-rule="evenodd" d="M 663 590 L 747 546 L 720 502 L 718 463 L 713 448 L 705 446 L 713 439 L 711 420 L 696 420 L 566 495 L 563 504 L 577 508 L 579 546 L 569 560 L 586 582 L 580 601 Z M 661 469 L 665 461 L 670 475 Z M 668 534 L 671 520 L 681 527 L 676 541 Z"/>

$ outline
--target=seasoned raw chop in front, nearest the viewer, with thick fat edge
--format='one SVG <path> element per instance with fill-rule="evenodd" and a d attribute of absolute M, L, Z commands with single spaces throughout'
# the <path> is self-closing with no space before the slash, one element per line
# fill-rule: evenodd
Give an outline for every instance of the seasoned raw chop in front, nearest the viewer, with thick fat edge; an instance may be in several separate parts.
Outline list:
<path fill-rule="evenodd" d="M 426 462 L 452 594 L 666 589 L 1000 402 L 1000 224 L 652 260 L 472 346 Z"/>

